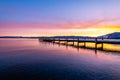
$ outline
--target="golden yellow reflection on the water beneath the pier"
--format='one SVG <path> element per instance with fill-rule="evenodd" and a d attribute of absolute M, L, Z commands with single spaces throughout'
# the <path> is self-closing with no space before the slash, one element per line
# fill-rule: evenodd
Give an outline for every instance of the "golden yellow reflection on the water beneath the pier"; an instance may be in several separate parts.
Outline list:
<path fill-rule="evenodd" d="M 83 43 L 78 43 L 78 42 L 65 42 L 65 41 L 55 41 L 54 44 L 59 44 L 60 45 L 67 45 L 67 46 L 73 46 L 76 47 L 79 50 L 80 48 L 86 48 L 86 49 L 92 49 L 95 50 L 95 53 L 97 53 L 97 50 L 102 50 L 106 52 L 120 52 L 120 44 L 97 44 L 97 49 L 95 48 L 95 43 L 89 43 L 89 42 L 83 42 Z M 67 47 L 66 46 L 66 47 Z"/>

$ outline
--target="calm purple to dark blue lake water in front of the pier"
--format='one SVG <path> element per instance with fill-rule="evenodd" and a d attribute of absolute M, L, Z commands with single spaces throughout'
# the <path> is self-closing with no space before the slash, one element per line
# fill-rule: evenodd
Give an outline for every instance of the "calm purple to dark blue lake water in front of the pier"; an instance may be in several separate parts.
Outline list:
<path fill-rule="evenodd" d="M 120 53 L 0 39 L 0 80 L 120 80 Z"/>

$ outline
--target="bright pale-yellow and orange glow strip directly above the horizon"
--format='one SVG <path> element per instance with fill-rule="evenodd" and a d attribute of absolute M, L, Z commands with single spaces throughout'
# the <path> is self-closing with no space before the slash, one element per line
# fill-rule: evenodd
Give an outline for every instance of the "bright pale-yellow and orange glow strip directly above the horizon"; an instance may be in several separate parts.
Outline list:
<path fill-rule="evenodd" d="M 1 33 L 0 36 L 100 36 L 112 32 L 120 32 L 120 28 L 88 28 L 88 29 L 68 29 L 68 30 L 24 30 L 18 32 Z"/>

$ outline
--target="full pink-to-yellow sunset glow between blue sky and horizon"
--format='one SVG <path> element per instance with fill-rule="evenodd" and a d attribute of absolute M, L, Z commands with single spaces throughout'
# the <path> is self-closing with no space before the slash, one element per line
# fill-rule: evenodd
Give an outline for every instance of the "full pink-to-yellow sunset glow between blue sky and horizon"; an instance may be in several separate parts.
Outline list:
<path fill-rule="evenodd" d="M 103 21 L 103 20 L 102 20 Z M 120 25 L 100 24 L 102 21 L 84 24 L 48 25 L 39 23 L 2 24 L 0 36 L 100 36 L 120 32 Z M 43 27 L 42 27 L 43 26 Z"/>

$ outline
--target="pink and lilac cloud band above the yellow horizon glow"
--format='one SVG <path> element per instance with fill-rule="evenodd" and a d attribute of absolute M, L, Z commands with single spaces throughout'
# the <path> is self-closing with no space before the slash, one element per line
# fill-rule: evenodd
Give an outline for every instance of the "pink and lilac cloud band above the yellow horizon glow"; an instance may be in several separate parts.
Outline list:
<path fill-rule="evenodd" d="M 95 20 L 51 20 L 48 22 L 0 21 L 1 29 L 87 29 L 100 26 L 119 25 L 120 18 Z"/>

